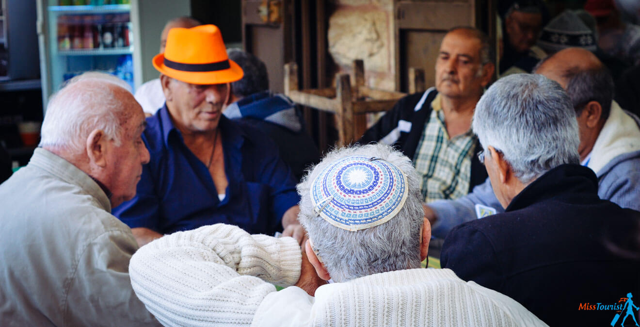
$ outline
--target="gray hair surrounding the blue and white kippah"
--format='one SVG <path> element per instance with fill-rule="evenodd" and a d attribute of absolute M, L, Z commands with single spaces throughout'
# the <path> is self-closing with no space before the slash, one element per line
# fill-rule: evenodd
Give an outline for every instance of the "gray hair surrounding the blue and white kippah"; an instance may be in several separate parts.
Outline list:
<path fill-rule="evenodd" d="M 321 171 L 348 156 L 378 157 L 396 165 L 407 177 L 408 196 L 397 215 L 376 227 L 350 232 L 335 227 L 314 213 L 310 187 Z M 420 267 L 420 230 L 424 211 L 418 176 L 411 160 L 383 144 L 356 145 L 328 153 L 298 184 L 298 221 L 307 230 L 318 256 L 335 282 Z"/>

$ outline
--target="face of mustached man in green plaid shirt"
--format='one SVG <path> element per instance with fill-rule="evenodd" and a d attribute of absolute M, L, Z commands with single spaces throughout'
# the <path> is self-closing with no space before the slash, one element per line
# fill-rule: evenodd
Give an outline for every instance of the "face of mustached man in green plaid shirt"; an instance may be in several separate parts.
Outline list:
<path fill-rule="evenodd" d="M 452 31 L 444 37 L 436 60 L 438 92 L 456 99 L 480 97 L 490 79 L 482 76 L 480 49 L 480 40 L 465 31 Z"/>

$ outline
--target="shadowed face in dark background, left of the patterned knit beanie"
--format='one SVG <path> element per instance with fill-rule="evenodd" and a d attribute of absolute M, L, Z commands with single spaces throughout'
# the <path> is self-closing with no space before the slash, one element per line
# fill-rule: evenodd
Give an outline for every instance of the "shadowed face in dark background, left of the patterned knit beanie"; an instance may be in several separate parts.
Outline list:
<path fill-rule="evenodd" d="M 542 14 L 514 11 L 504 21 L 504 26 L 513 49 L 526 52 L 538 40 L 542 28 Z"/>

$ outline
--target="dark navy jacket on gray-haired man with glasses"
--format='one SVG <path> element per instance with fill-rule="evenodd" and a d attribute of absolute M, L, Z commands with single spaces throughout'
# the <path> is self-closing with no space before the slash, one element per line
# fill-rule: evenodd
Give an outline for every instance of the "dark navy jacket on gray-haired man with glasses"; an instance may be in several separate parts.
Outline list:
<path fill-rule="evenodd" d="M 510 296 L 550 326 L 608 326 L 615 310 L 586 308 L 640 295 L 640 212 L 597 192 L 589 168 L 558 166 L 506 212 L 453 228 L 442 267 Z"/>

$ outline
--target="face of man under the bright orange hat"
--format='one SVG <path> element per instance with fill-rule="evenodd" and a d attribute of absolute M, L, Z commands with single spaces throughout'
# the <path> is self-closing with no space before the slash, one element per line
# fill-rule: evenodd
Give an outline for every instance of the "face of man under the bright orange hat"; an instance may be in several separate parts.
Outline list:
<path fill-rule="evenodd" d="M 230 97 L 229 84 L 198 85 L 177 79 L 163 82 L 166 105 L 181 131 L 210 132 L 218 128 Z"/>

